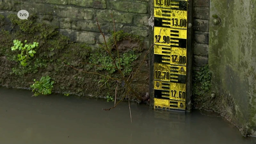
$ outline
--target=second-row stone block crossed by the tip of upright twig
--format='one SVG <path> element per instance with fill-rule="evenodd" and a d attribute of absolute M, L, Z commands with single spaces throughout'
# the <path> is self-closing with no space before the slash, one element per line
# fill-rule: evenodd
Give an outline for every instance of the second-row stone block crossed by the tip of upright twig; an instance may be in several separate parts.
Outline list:
<path fill-rule="evenodd" d="M 112 11 L 113 18 L 116 23 L 132 23 L 134 14 L 128 12 Z M 113 22 L 111 18 L 111 10 L 98 10 L 96 17 L 100 21 Z"/>

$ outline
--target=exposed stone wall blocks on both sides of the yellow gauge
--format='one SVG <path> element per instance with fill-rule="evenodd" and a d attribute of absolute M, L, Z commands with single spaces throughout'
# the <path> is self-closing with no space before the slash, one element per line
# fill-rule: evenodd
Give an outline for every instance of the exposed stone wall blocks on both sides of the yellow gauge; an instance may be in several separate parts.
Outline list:
<path fill-rule="evenodd" d="M 132 33 L 144 37 L 144 52 L 150 44 L 148 27 L 150 17 L 149 0 L 2 0 L 0 13 L 5 17 L 25 9 L 31 15 L 39 16 L 38 22 L 59 27 L 60 33 L 76 43 L 86 43 L 96 48 L 103 42 L 97 28 L 96 19 L 106 37 L 113 30 L 111 12 L 115 19 L 116 31 Z M 194 0 L 194 67 L 208 63 L 210 0 Z M 141 58 L 140 58 L 141 59 Z M 144 69 L 145 79 L 148 69 Z M 144 82 L 141 82 L 144 83 Z"/>

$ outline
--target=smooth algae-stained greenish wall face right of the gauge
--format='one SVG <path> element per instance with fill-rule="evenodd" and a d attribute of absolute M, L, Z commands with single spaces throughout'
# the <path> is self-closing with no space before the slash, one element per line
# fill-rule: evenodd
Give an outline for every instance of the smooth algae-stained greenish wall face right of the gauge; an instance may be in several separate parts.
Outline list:
<path fill-rule="evenodd" d="M 209 66 L 213 90 L 225 89 L 234 98 L 232 120 L 256 130 L 256 44 L 254 0 L 212 1 Z M 219 20 L 219 21 L 220 21 Z M 227 109 L 228 110 L 228 109 Z"/>

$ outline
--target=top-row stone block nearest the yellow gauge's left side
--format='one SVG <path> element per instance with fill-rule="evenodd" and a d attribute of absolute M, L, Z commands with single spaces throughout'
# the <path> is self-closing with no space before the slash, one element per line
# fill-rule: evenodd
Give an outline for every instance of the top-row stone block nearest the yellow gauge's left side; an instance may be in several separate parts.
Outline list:
<path fill-rule="evenodd" d="M 108 7 L 124 12 L 147 13 L 147 4 L 129 1 L 108 1 Z"/>

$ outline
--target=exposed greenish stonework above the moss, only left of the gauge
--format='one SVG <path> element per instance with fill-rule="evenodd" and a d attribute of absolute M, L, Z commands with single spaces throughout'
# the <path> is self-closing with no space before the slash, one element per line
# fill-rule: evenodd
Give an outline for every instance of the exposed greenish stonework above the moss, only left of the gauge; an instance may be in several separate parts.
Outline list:
<path fill-rule="evenodd" d="M 116 30 L 144 36 L 147 40 L 147 1 L 3 0 L 0 2 L 0 10 L 2 14 L 22 9 L 30 14 L 38 14 L 42 21 L 58 26 L 60 32 L 68 35 L 72 41 L 94 46 L 98 41 L 102 42 L 95 18 L 99 20 L 102 31 L 108 36 L 108 33 L 114 30 L 111 12 L 116 22 Z"/>

